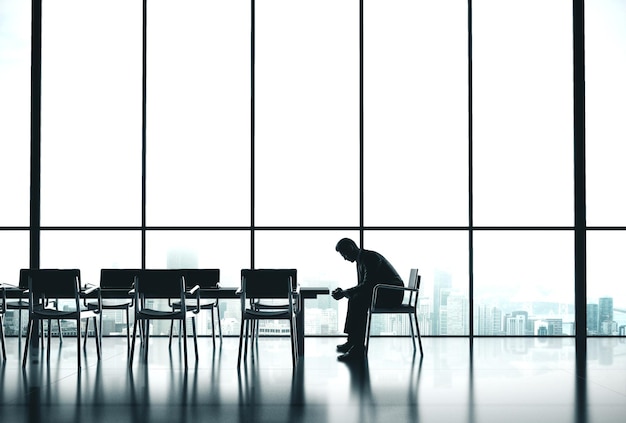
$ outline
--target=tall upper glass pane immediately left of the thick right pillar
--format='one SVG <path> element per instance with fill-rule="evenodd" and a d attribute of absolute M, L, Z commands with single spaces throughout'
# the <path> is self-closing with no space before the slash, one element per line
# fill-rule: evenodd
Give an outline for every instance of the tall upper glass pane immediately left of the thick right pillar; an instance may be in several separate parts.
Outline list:
<path fill-rule="evenodd" d="M 473 2 L 476 225 L 572 225 L 572 2 Z"/>

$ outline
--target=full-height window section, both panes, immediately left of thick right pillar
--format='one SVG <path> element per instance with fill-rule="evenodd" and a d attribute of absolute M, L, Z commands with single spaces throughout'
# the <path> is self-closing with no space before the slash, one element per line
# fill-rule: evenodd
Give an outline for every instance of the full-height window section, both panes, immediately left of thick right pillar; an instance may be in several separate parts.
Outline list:
<path fill-rule="evenodd" d="M 476 335 L 574 334 L 571 3 L 472 2 Z"/>

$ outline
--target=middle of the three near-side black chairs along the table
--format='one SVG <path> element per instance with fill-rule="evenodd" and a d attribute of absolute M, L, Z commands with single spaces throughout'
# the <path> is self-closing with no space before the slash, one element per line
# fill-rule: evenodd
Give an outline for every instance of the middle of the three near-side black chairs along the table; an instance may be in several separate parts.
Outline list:
<path fill-rule="evenodd" d="M 200 312 L 200 287 L 195 285 L 186 289 L 185 276 L 180 270 L 142 270 L 135 276 L 134 288 L 131 291 L 135 296 L 135 323 L 133 324 L 133 342 L 130 349 L 129 365 L 133 364 L 137 325 L 143 326 L 143 346 L 145 360 L 148 359 L 148 340 L 150 336 L 150 320 L 179 320 L 183 327 L 183 342 L 185 351 L 185 368 L 187 364 L 187 317 L 191 317 L 193 328 L 193 342 L 198 360 L 198 338 L 196 336 L 195 315 Z M 187 296 L 195 298 L 195 304 L 187 305 Z M 181 307 L 177 310 L 161 310 L 154 299 L 173 299 L 180 301 Z M 151 304 L 152 303 L 152 304 Z"/>

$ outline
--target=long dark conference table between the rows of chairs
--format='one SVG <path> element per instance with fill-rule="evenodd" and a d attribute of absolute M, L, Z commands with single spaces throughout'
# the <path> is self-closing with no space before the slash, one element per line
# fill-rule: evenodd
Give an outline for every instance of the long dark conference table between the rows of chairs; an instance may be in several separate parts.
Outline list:
<path fill-rule="evenodd" d="M 200 289 L 200 298 L 210 299 L 239 299 L 239 287 L 219 287 L 212 289 Z M 306 310 L 305 301 L 315 299 L 319 295 L 328 295 L 330 290 L 326 287 L 300 287 L 298 295 L 298 312 L 296 313 L 296 338 L 298 340 L 298 354 L 304 355 L 304 311 Z M 102 298 L 128 298 L 130 294 L 126 290 L 120 289 L 102 289 L 100 290 Z"/>

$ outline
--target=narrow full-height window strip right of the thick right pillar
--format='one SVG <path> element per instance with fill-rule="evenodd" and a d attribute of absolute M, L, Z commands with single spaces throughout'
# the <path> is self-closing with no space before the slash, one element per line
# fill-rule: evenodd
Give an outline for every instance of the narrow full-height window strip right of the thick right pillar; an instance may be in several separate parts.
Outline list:
<path fill-rule="evenodd" d="M 626 3 L 585 3 L 587 333 L 626 335 Z"/>

